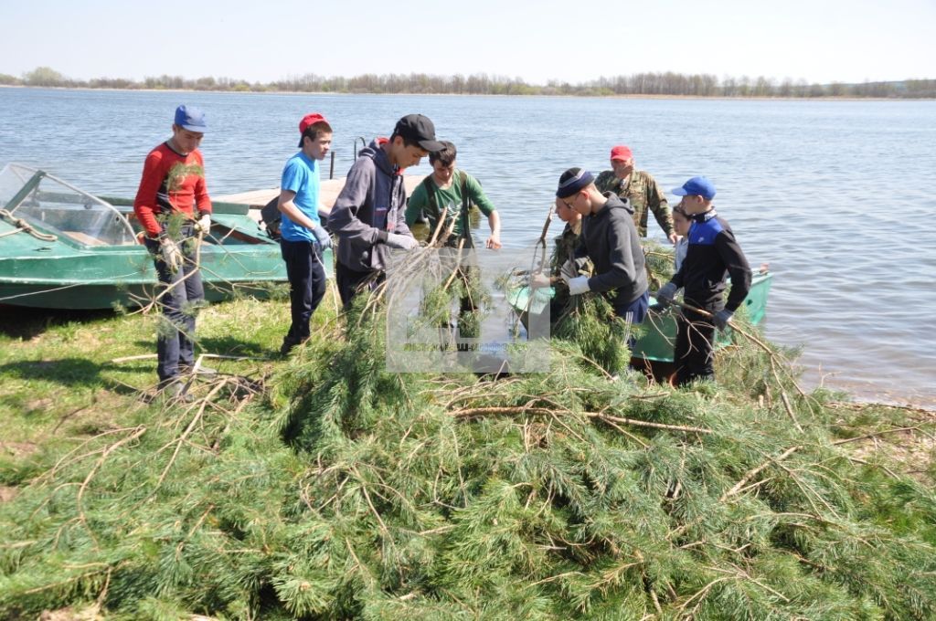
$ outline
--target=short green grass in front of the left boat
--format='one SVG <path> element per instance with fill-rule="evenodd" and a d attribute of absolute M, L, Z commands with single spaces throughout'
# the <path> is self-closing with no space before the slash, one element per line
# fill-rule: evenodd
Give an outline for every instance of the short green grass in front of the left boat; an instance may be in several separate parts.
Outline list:
<path fill-rule="evenodd" d="M 313 325 L 333 320 L 335 300 L 329 290 Z M 155 312 L 0 307 L 0 499 L 77 441 L 164 407 L 152 401 L 155 357 L 114 362 L 155 354 L 157 320 Z M 203 364 L 269 375 L 285 364 L 279 347 L 289 323 L 288 299 L 212 304 L 198 315 L 196 355 L 255 358 L 206 357 Z"/>

